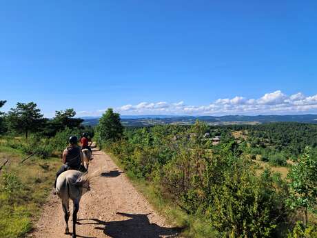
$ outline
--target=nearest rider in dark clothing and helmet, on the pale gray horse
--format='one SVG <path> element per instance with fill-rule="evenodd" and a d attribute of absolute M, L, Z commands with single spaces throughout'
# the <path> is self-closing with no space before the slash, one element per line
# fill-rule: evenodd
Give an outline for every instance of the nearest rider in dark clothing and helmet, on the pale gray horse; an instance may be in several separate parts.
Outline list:
<path fill-rule="evenodd" d="M 57 171 L 54 188 L 56 188 L 57 177 L 66 170 L 79 170 L 83 161 L 81 148 L 77 146 L 77 137 L 70 137 L 70 146 L 63 151 L 63 165 Z"/>

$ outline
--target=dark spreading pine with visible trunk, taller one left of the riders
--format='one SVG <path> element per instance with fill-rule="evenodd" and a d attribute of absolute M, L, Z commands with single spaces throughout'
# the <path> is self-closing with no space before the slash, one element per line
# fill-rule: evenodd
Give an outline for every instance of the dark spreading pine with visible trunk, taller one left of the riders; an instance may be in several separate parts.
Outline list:
<path fill-rule="evenodd" d="M 24 133 L 28 139 L 28 133 L 39 131 L 45 121 L 40 112 L 37 103 L 17 103 L 17 108 L 8 112 L 8 126 L 15 132 Z"/>

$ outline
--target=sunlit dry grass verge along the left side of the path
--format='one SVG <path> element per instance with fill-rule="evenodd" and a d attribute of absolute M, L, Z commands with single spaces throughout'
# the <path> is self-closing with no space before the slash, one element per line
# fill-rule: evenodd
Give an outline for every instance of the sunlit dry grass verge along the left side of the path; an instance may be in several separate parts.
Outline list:
<path fill-rule="evenodd" d="M 39 217 L 61 162 L 32 157 L 20 163 L 27 155 L 1 142 L 0 164 L 9 162 L 0 171 L 0 237 L 23 237 Z"/>

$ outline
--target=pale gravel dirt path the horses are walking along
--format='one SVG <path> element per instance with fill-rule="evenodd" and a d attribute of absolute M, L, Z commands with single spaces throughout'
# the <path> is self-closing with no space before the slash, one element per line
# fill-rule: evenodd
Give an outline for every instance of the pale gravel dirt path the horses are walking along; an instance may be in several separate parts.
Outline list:
<path fill-rule="evenodd" d="M 89 172 L 95 173 L 90 192 L 83 195 L 79 208 L 77 237 L 147 238 L 178 237 L 145 198 L 136 191 L 110 156 L 94 150 Z M 72 214 L 72 202 L 70 203 Z M 72 231 L 72 215 L 70 216 Z M 64 238 L 65 221 L 61 201 L 51 195 L 29 237 Z"/>

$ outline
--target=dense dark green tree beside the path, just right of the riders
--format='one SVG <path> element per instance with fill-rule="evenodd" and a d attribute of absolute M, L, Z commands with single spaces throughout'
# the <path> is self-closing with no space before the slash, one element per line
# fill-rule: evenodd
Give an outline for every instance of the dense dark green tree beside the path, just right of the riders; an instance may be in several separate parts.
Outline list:
<path fill-rule="evenodd" d="M 101 141 L 120 139 L 123 134 L 123 126 L 121 125 L 119 113 L 114 113 L 112 108 L 108 108 L 101 119 L 99 125 L 96 126 L 96 135 Z"/>

